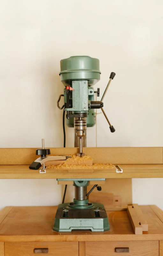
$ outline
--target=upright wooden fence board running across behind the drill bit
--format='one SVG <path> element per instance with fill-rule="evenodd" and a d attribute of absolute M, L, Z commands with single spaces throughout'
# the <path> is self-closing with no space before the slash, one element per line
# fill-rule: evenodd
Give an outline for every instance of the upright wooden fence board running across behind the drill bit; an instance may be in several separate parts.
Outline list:
<path fill-rule="evenodd" d="M 2 165 L 30 165 L 37 156 L 36 148 L 1 148 Z M 74 155 L 78 148 L 50 148 L 51 155 Z M 162 147 L 83 148 L 83 152 L 103 164 L 163 164 Z"/>

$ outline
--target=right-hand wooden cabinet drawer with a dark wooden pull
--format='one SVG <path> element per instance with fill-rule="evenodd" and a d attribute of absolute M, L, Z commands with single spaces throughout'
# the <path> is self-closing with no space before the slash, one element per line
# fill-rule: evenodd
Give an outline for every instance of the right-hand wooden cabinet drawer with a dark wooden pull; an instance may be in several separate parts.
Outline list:
<path fill-rule="evenodd" d="M 129 252 L 118 253 L 115 252 L 115 248 L 129 248 Z M 159 241 L 85 242 L 85 256 L 99 255 L 159 256 Z"/>

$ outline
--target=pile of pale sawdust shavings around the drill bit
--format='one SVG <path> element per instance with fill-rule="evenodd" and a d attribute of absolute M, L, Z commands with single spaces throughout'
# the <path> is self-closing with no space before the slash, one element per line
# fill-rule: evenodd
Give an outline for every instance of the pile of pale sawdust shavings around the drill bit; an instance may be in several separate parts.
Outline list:
<path fill-rule="evenodd" d="M 114 168 L 114 166 L 112 164 L 93 164 L 92 166 L 88 166 L 85 164 L 82 164 L 83 161 L 87 161 L 87 160 L 93 160 L 90 156 L 83 156 L 83 157 L 78 157 L 76 155 L 71 155 L 72 158 L 68 158 L 66 160 L 66 162 L 68 161 L 72 161 L 72 162 L 77 162 L 78 161 L 78 165 L 68 165 L 66 163 L 63 163 L 62 165 L 57 165 L 57 166 L 48 166 L 47 168 L 51 168 L 51 169 L 110 169 L 110 168 Z"/>

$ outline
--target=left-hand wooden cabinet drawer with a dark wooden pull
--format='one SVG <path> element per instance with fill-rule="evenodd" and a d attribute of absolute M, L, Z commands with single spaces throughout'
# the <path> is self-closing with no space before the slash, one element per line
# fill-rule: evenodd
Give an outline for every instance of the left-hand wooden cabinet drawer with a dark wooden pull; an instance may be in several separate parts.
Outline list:
<path fill-rule="evenodd" d="M 5 243 L 5 256 L 78 256 L 78 242 L 19 242 Z M 48 248 L 48 253 L 35 254 L 34 249 Z M 40 251 L 41 252 L 41 251 Z"/>

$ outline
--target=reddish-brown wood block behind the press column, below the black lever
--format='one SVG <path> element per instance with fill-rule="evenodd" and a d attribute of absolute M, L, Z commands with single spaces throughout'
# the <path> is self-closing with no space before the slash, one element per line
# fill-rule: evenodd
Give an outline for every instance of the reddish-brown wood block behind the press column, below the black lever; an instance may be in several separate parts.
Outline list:
<path fill-rule="evenodd" d="M 89 195 L 89 201 L 90 202 L 96 202 L 101 203 L 105 206 L 105 208 L 108 208 L 110 206 L 113 207 L 113 194 L 112 193 L 91 193 Z"/>

